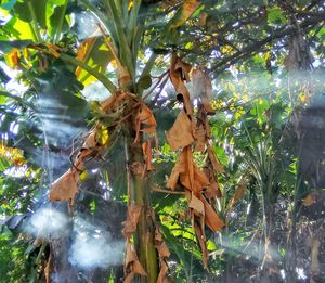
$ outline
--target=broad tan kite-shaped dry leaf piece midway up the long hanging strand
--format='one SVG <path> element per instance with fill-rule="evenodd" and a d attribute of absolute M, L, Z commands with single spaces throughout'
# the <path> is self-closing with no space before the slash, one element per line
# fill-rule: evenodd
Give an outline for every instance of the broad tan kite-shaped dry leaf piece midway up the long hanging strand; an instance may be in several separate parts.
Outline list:
<path fill-rule="evenodd" d="M 172 151 L 185 147 L 193 143 L 192 123 L 182 110 L 171 129 L 166 133 L 167 141 Z"/>

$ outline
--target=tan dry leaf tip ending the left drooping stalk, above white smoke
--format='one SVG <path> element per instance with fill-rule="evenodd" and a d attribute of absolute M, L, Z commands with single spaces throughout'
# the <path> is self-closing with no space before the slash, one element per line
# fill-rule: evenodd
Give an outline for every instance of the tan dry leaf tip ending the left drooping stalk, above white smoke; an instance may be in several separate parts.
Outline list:
<path fill-rule="evenodd" d="M 69 169 L 52 184 L 49 193 L 50 202 L 68 201 L 73 205 L 78 193 L 79 180 L 78 171 Z"/>

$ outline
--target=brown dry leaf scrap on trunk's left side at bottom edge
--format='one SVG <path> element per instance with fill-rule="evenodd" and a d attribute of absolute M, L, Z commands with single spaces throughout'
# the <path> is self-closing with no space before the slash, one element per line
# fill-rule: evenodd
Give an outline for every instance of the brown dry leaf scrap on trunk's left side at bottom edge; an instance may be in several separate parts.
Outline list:
<path fill-rule="evenodd" d="M 125 283 L 131 283 L 135 274 L 146 276 L 146 272 L 138 259 L 135 247 L 131 242 L 127 242 L 125 258 Z"/>

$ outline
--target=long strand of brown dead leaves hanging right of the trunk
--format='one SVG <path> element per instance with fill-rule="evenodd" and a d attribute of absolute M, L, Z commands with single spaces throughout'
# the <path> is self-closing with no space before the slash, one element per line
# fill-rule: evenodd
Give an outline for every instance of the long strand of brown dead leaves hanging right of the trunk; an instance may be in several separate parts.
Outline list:
<path fill-rule="evenodd" d="M 211 138 L 207 116 L 214 114 L 209 104 L 212 87 L 203 69 L 192 72 L 193 95 L 198 101 L 196 119 L 194 118 L 193 101 L 185 86 L 190 81 L 191 66 L 172 55 L 170 79 L 183 103 L 172 128 L 167 132 L 167 141 L 172 151 L 180 150 L 180 156 L 171 171 L 166 186 L 174 190 L 180 184 L 184 191 L 191 209 L 192 226 L 203 252 L 204 266 L 208 266 L 205 227 L 218 232 L 224 226 L 214 210 L 216 197 L 221 196 L 217 173 L 224 170 L 213 154 L 209 143 Z M 207 154 L 205 170 L 200 170 L 193 159 L 193 150 Z"/>

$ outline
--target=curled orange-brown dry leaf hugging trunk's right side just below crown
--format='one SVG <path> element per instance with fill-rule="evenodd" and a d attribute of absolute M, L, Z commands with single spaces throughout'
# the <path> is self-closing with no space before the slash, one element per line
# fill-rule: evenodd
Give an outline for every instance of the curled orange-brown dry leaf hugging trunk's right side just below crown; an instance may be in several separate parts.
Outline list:
<path fill-rule="evenodd" d="M 145 126 L 141 129 L 141 125 Z M 153 112 L 148 106 L 142 104 L 139 108 L 139 112 L 135 116 L 135 139 L 134 142 L 139 142 L 140 140 L 140 131 L 147 132 L 147 133 L 155 133 L 156 131 L 156 119 L 154 117 Z"/>

